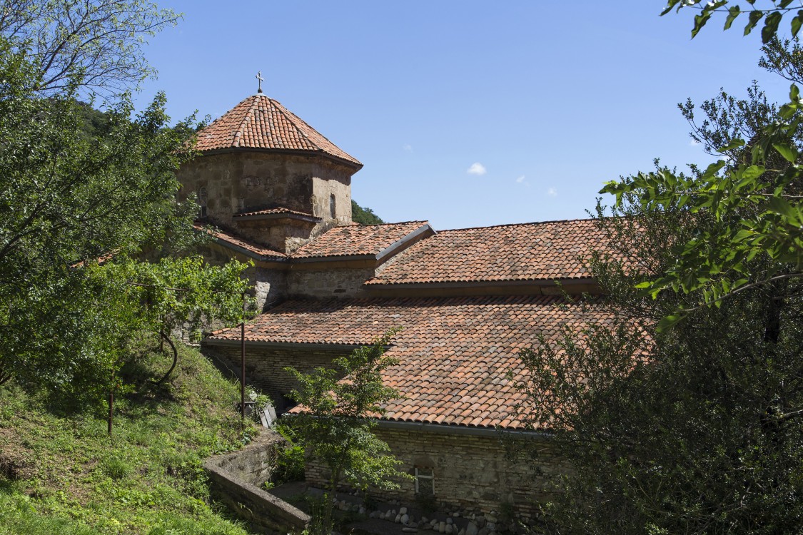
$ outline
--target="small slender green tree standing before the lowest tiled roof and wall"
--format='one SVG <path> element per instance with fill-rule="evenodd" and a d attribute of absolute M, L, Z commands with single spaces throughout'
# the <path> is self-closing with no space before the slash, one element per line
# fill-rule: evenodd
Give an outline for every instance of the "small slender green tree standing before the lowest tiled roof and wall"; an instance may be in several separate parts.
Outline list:
<path fill-rule="evenodd" d="M 382 383 L 382 371 L 398 363 L 385 355 L 395 332 L 335 359 L 337 369 L 316 368 L 305 374 L 285 368 L 299 383 L 291 397 L 302 405 L 289 424 L 308 459 L 328 470 L 326 494 L 313 526 L 318 535 L 332 530 L 332 496 L 341 483 L 362 489 L 369 485 L 398 488 L 396 480 L 407 476 L 397 471 L 399 461 L 372 432 L 385 414 L 383 403 L 401 397 Z"/>

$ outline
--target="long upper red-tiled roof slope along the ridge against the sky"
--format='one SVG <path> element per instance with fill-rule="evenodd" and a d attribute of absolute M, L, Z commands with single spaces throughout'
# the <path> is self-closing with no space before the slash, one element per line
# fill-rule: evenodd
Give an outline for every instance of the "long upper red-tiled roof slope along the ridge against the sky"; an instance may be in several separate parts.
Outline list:
<path fill-rule="evenodd" d="M 399 253 L 365 284 L 589 278 L 577 257 L 604 243 L 591 219 L 442 230 Z"/>

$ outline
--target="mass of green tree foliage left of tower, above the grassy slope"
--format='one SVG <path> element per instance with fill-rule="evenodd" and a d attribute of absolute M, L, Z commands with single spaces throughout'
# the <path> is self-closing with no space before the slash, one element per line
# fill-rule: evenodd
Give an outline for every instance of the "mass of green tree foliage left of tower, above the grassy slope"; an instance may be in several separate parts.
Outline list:
<path fill-rule="evenodd" d="M 194 119 L 171 126 L 162 94 L 138 112 L 77 99 L 144 75 L 136 43 L 168 18 L 139 0 L 0 7 L 0 383 L 97 401 L 143 329 L 242 318 L 244 265 L 183 258 L 205 236 L 176 200 Z"/>

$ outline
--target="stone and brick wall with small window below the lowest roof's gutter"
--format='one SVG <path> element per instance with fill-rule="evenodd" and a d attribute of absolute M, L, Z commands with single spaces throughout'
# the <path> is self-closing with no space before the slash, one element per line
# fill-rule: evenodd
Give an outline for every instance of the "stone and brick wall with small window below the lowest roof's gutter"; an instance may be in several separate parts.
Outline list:
<path fill-rule="evenodd" d="M 435 499 L 444 510 L 461 509 L 477 514 L 512 508 L 518 514 L 532 517 L 536 504 L 547 501 L 550 480 L 568 472 L 569 465 L 551 444 L 539 440 L 534 460 L 509 460 L 497 436 L 467 436 L 428 431 L 399 431 L 378 428 L 381 440 L 402 461 L 402 471 L 414 474 L 414 468 L 431 468 L 434 473 Z M 306 479 L 323 484 L 326 471 L 318 464 L 309 464 Z M 403 480 L 398 491 L 373 490 L 383 499 L 415 503 L 415 483 Z"/>

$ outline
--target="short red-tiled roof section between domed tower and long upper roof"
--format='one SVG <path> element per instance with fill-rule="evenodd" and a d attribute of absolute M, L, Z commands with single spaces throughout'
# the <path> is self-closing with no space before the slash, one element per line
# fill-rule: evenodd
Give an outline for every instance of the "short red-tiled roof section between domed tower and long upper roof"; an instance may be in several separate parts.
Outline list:
<path fill-rule="evenodd" d="M 426 221 L 387 225 L 348 225 L 329 229 L 296 249 L 293 258 L 376 256 L 418 229 L 429 229 Z"/>

